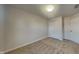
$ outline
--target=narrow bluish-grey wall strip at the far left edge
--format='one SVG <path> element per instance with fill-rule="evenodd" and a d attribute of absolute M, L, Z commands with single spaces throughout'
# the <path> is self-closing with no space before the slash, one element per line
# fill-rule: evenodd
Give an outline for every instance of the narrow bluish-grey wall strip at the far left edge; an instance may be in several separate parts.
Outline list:
<path fill-rule="evenodd" d="M 0 5 L 0 53 L 4 50 L 5 6 Z"/>

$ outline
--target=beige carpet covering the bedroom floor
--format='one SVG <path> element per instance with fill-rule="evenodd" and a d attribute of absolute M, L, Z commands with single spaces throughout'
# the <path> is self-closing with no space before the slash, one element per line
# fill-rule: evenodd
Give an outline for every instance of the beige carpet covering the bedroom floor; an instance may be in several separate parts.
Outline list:
<path fill-rule="evenodd" d="M 7 54 L 78 54 L 79 44 L 70 40 L 46 38 Z"/>

